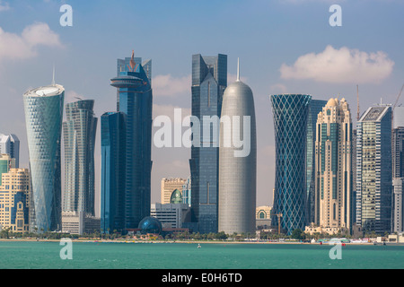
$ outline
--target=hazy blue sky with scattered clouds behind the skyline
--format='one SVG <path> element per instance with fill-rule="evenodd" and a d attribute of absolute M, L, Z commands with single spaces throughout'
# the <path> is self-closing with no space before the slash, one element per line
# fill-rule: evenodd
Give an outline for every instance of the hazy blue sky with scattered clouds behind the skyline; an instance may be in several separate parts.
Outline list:
<path fill-rule="evenodd" d="M 73 8 L 72 26 L 60 23 L 63 4 Z M 333 4 L 340 13 L 330 11 Z M 136 57 L 153 61 L 154 117 L 172 117 L 175 108 L 185 117 L 191 107 L 192 55 L 225 54 L 228 84 L 240 58 L 242 82 L 254 94 L 257 205 L 272 205 L 275 135 L 269 96 L 345 98 L 354 125 L 356 85 L 361 114 L 381 100 L 394 104 L 404 84 L 403 11 L 401 0 L 0 0 L 0 133 L 20 138 L 20 165 L 28 168 L 22 94 L 50 84 L 53 65 L 56 83 L 66 89 L 65 102 L 95 100 L 95 116 L 101 117 L 116 110 L 110 79 L 117 59 L 134 50 Z M 331 26 L 330 18 L 341 26 Z M 404 96 L 399 104 L 403 101 Z M 98 126 L 97 212 L 100 137 Z M 162 178 L 189 177 L 189 158 L 188 148 L 153 146 L 152 203 L 160 201 Z"/>

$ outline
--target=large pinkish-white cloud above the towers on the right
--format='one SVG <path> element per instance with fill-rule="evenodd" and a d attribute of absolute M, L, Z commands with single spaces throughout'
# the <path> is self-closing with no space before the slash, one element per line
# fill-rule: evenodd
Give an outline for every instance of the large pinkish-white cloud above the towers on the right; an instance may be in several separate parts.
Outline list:
<path fill-rule="evenodd" d="M 319 54 L 299 57 L 294 65 L 281 65 L 283 79 L 314 80 L 323 83 L 380 83 L 387 78 L 394 62 L 386 53 L 366 53 L 358 49 L 327 46 Z"/>

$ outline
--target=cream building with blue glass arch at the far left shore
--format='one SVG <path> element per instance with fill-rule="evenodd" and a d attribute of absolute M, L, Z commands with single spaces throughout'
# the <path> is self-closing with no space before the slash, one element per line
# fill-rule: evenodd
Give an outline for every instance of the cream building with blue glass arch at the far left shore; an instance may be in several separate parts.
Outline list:
<path fill-rule="evenodd" d="M 0 225 L 13 232 L 29 231 L 30 171 L 10 169 L 3 173 L 0 186 Z"/>

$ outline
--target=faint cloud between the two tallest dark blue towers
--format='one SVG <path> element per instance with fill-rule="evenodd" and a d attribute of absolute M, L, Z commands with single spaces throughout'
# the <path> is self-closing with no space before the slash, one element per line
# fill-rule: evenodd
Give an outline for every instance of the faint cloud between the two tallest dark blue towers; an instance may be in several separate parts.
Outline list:
<path fill-rule="evenodd" d="M 177 97 L 184 92 L 190 92 L 191 75 L 173 77 L 171 74 L 160 74 L 153 78 L 154 96 Z"/>

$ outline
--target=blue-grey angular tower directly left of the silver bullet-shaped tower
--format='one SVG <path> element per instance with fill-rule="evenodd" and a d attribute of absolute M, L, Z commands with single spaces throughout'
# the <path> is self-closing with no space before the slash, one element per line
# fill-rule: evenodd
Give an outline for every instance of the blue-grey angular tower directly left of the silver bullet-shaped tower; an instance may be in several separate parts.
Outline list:
<path fill-rule="evenodd" d="M 200 233 L 217 232 L 219 187 L 219 123 L 227 86 L 227 56 L 192 56 L 192 116 L 200 131 L 193 130 L 189 167 L 193 222 Z M 204 129 L 206 133 L 204 133 Z M 200 141 L 198 141 L 200 139 Z"/>

